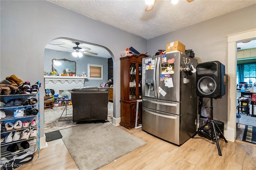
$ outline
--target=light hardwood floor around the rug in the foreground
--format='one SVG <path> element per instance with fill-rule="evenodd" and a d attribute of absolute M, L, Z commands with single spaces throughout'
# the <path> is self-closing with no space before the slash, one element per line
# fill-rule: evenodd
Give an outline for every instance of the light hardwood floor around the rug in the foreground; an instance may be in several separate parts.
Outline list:
<path fill-rule="evenodd" d="M 256 147 L 243 143 L 225 143 L 220 139 L 222 156 L 216 142 L 196 136 L 180 147 L 162 141 L 142 129 L 120 129 L 146 141 L 100 170 L 256 170 Z M 125 146 L 124 146 L 125 147 Z M 48 142 L 34 159 L 17 170 L 78 170 L 62 139 Z"/>

